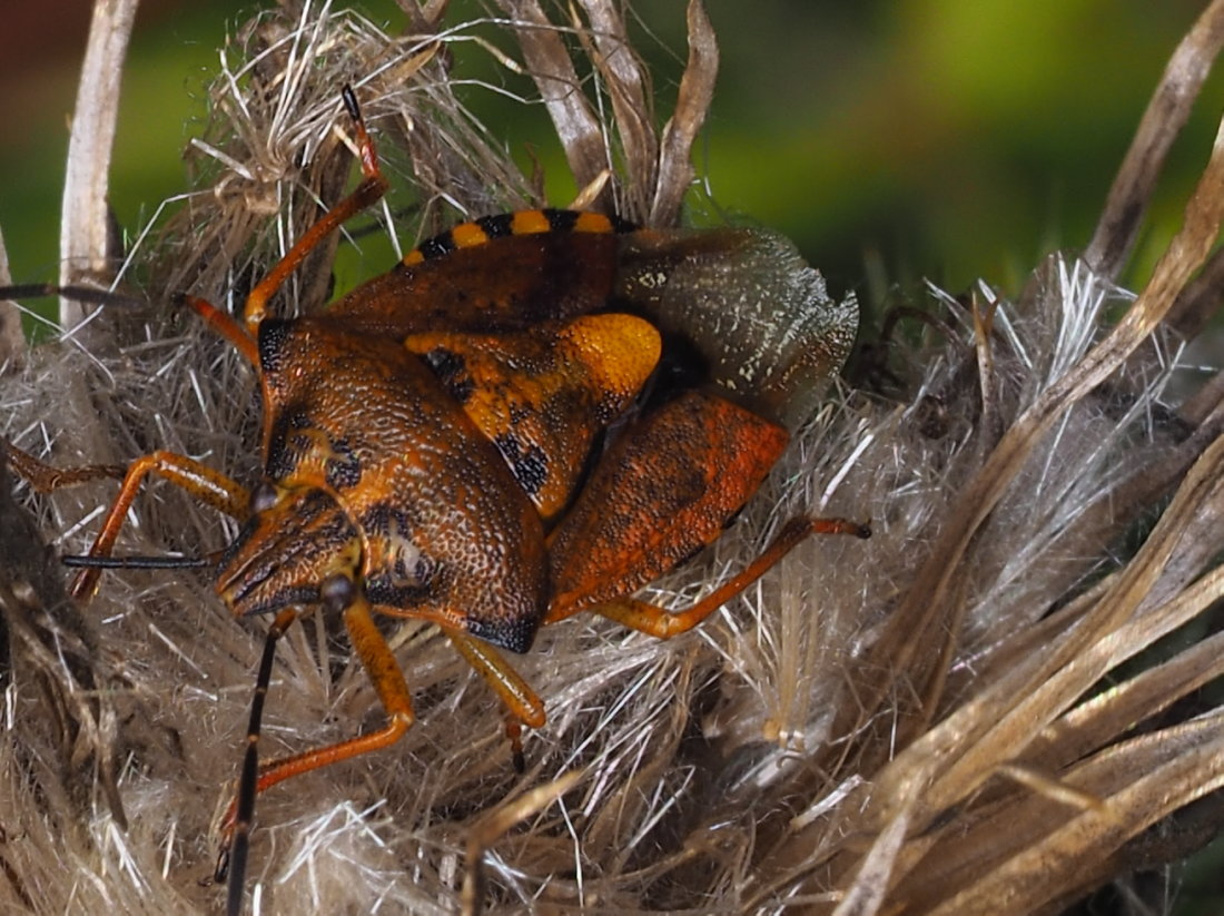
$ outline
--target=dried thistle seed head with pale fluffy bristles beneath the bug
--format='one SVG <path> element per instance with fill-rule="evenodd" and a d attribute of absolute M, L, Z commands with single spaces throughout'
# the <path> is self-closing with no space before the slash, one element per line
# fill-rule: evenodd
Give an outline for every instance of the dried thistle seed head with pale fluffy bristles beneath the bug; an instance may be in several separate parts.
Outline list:
<path fill-rule="evenodd" d="M 591 22 L 594 6 L 581 7 Z M 519 28 L 497 47 L 531 70 L 526 47 L 509 49 L 525 43 L 518 33 L 547 29 L 526 21 L 526 6 L 515 10 Z M 414 31 L 424 34 L 436 23 L 421 16 Z M 448 67 L 472 48 L 485 53 L 464 28 L 398 39 L 338 12 L 269 16 L 258 28 L 245 39 L 250 61 L 230 53 L 234 80 L 218 89 L 217 132 L 201 147 L 217 190 L 191 197 L 190 217 L 159 242 L 169 253 L 154 257 L 147 244 L 133 252 L 159 283 L 241 298 L 317 214 L 318 198 L 334 200 L 350 170 L 337 132 L 345 80 L 368 93 L 383 151 L 394 158 L 403 145 L 405 186 L 420 182 L 408 197 L 419 209 L 397 230 L 405 246 L 449 222 L 448 207 L 536 200 L 534 179 L 459 104 Z M 574 47 L 599 53 L 595 37 L 567 45 L 570 28 L 556 23 L 567 56 Z M 301 66 L 307 58 L 327 64 L 316 72 Z M 601 60 L 595 70 L 610 82 L 606 49 Z M 435 82 L 416 80 L 426 70 Z M 622 105 L 635 98 L 632 70 L 623 78 Z M 542 94 L 550 108 L 574 104 L 570 93 Z M 565 118 L 586 122 L 581 105 Z M 222 129 L 226 119 L 233 126 Z M 628 162 L 629 148 L 650 149 L 639 135 L 605 140 L 616 131 L 595 124 L 573 131 L 599 140 L 586 146 L 563 131 L 570 162 L 583 163 L 579 185 L 605 163 Z M 471 152 L 480 143 L 488 159 Z M 1218 190 L 1212 169 L 1208 191 Z M 650 169 L 632 171 L 608 193 L 652 219 L 651 195 L 666 195 Z M 1220 195 L 1204 192 L 1200 212 L 1212 200 Z M 405 207 L 390 209 L 398 222 Z M 1215 238 L 1209 214 L 1196 219 L 1177 251 Z M 1127 347 L 1169 305 L 1185 266 L 1149 288 L 1125 323 Z M 304 269 L 284 305 L 321 302 L 327 271 Z M 894 351 L 887 369 L 901 381 L 891 397 L 847 389 L 831 400 L 769 482 L 772 502 L 750 508 L 700 568 L 717 580 L 783 519 L 830 503 L 873 518 L 869 550 L 808 545 L 684 640 L 583 620 L 546 631 L 524 674 L 552 721 L 528 738 L 532 769 L 521 783 L 498 759 L 493 700 L 436 634 L 400 632 L 420 723 L 394 754 L 267 797 L 253 860 L 263 911 L 453 907 L 465 858 L 485 847 L 485 900 L 497 909 L 547 900 L 771 912 L 803 900 L 830 912 L 1027 914 L 1106 880 L 1119 861 L 1154 855 L 1142 832 L 1177 828 L 1162 818 L 1218 786 L 1224 760 L 1218 705 L 1195 697 L 1191 718 L 1176 703 L 1218 677 L 1215 637 L 1179 644 L 1142 672 L 1124 666 L 1218 594 L 1218 386 L 1186 372 L 1163 337 L 1133 350 L 1127 372 L 1105 376 L 1126 349 L 1106 338 L 1108 312 L 1130 296 L 1065 257 L 1038 266 L 1015 301 L 985 284 L 963 298 L 931 289 L 929 299 L 941 328 L 901 358 Z M 231 470 L 250 465 L 256 431 L 244 426 L 251 386 L 239 362 L 191 322 L 158 312 L 141 322 L 125 328 L 121 351 L 103 349 L 113 345 L 105 338 L 89 353 L 35 351 L 27 374 L 0 389 L 11 435 L 29 447 L 54 438 L 64 464 L 165 446 Z M 1170 381 L 1200 397 L 1197 411 Z M 110 494 L 35 501 L 40 530 L 80 542 L 73 528 L 89 529 Z M 1162 509 L 1166 520 L 1148 530 Z M 133 551 L 207 550 L 233 536 L 164 490 L 135 514 Z M 71 756 L 37 734 L 47 709 L 66 704 L 45 705 L 28 682 L 10 694 L 16 740 L 0 748 L 12 763 L 0 774 L 22 834 L 5 838 L 18 877 L 0 895 L 12 906 L 214 907 L 215 890 L 197 880 L 211 871 L 207 822 L 226 800 L 218 781 L 233 771 L 257 647 L 202 598 L 207 587 L 187 576 L 114 577 L 94 606 L 99 658 L 114 671 L 106 696 L 132 760 L 121 781 L 127 833 L 82 814 L 70 791 L 80 791 L 80 770 L 61 767 Z M 679 605 L 703 588 L 689 569 L 649 598 Z M 350 735 L 376 698 L 346 648 L 322 626 L 288 643 L 266 741 L 290 751 Z M 70 655 L 48 658 L 67 670 Z M 554 779 L 557 802 L 547 791 L 542 801 L 519 795 Z"/>

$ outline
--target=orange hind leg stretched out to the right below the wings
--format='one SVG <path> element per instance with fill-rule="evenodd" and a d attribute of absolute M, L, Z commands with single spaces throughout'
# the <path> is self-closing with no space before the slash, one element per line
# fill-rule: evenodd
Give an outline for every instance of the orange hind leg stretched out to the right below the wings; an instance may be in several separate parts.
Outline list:
<path fill-rule="evenodd" d="M 732 598 L 756 582 L 782 557 L 813 534 L 853 534 L 856 538 L 869 538 L 871 531 L 867 525 L 858 524 L 857 522 L 847 522 L 843 518 L 794 518 L 787 522 L 782 533 L 774 539 L 774 542 L 765 549 L 765 552 L 756 557 L 747 569 L 725 582 L 684 611 L 667 611 L 632 598 L 623 598 L 592 607 L 591 610 L 630 629 L 638 629 L 660 639 L 670 639 L 673 636 L 687 633 L 704 621 Z"/>

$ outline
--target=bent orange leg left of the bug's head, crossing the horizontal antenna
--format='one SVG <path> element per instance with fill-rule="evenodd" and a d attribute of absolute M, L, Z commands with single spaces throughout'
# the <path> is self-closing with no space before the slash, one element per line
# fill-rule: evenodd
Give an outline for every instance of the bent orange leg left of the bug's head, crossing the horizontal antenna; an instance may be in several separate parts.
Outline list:
<path fill-rule="evenodd" d="M 106 520 L 98 533 L 98 539 L 89 549 L 91 557 L 110 556 L 119 538 L 119 529 L 124 524 L 124 516 L 136 498 L 141 481 L 148 474 L 169 480 L 176 486 L 181 486 L 201 502 L 214 506 L 226 516 L 241 518 L 247 512 L 250 496 L 246 487 L 237 484 L 224 474 L 174 452 L 153 452 L 137 458 L 127 465 L 127 474 L 124 476 L 124 485 L 119 490 L 119 496 L 106 513 Z M 98 588 L 99 568 L 82 569 L 72 582 L 71 593 L 73 598 L 86 599 Z"/>

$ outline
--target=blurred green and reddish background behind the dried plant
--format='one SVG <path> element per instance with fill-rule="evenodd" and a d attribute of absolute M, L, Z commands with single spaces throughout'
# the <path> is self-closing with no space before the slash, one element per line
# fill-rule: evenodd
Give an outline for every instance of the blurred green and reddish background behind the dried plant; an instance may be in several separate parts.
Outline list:
<path fill-rule="evenodd" d="M 21 280 L 56 274 L 66 120 L 88 6 L 48 16 L 42 4 L 6 1 L 0 229 Z M 718 206 L 793 236 L 835 291 L 870 291 L 868 263 L 889 282 L 929 277 L 955 291 L 984 277 L 1016 290 L 1042 253 L 1087 242 L 1152 87 L 1203 6 L 707 0 L 722 69 L 699 167 Z M 201 129 L 215 49 L 256 7 L 142 6 L 111 175 L 111 203 L 129 231 L 186 190 L 181 152 Z M 656 55 L 668 97 L 684 54 L 684 4 L 639 7 L 676 51 Z M 390 0 L 362 9 L 401 22 Z M 1174 149 L 1131 283 L 1175 231 L 1222 108 L 1217 78 Z M 520 132 L 509 131 L 512 143 Z"/>

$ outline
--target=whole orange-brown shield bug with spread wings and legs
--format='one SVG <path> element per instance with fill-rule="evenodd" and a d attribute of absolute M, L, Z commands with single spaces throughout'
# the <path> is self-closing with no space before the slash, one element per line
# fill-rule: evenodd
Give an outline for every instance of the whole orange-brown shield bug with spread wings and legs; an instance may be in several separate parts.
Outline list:
<path fill-rule="evenodd" d="M 307 253 L 387 189 L 348 87 L 343 99 L 360 152 L 356 190 L 255 287 L 240 318 L 181 298 L 259 377 L 262 480 L 247 489 L 170 452 L 137 458 L 88 556 L 75 558 L 84 568 L 71 591 L 86 600 L 103 567 L 125 565 L 113 550 L 149 475 L 242 522 L 219 555 L 217 591 L 236 616 L 275 617 L 223 828 L 218 877 L 228 869 L 231 914 L 256 796 L 387 747 L 412 725 L 376 616 L 438 625 L 506 704 L 521 765 L 519 729 L 541 727 L 545 708 L 498 648 L 526 651 L 540 626 L 580 611 L 668 638 L 808 535 L 869 534 L 843 519 L 797 518 L 687 610 L 632 598 L 718 538 L 849 349 L 853 300 L 832 302 L 774 234 L 525 211 L 426 241 L 322 313 L 271 315 Z M 56 471 L 9 451 L 35 487 L 104 471 Z M 261 764 L 275 642 L 317 606 L 343 620 L 387 724 Z"/>

